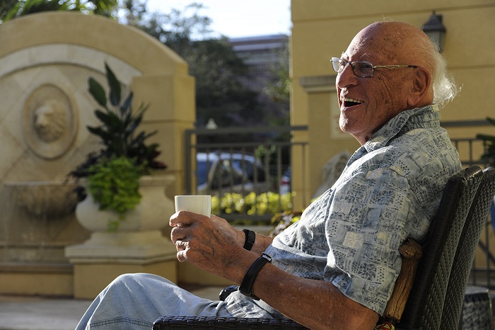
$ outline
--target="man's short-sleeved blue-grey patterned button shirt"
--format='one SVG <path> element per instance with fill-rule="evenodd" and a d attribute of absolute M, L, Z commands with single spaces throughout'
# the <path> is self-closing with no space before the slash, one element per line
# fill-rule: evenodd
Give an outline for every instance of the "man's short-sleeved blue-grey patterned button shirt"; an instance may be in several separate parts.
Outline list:
<path fill-rule="evenodd" d="M 383 314 L 400 271 L 399 246 L 424 238 L 445 183 L 460 169 L 438 106 L 406 110 L 354 153 L 334 186 L 266 252 L 284 271 L 328 281 Z M 235 316 L 263 316 L 258 307 L 279 316 L 235 293 L 228 299 Z"/>

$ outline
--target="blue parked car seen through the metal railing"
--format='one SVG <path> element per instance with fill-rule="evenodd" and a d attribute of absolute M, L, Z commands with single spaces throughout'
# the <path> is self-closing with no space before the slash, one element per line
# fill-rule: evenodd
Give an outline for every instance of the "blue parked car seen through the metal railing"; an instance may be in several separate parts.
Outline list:
<path fill-rule="evenodd" d="M 228 152 L 197 153 L 197 193 L 223 195 L 269 190 L 262 164 L 250 154 Z"/>

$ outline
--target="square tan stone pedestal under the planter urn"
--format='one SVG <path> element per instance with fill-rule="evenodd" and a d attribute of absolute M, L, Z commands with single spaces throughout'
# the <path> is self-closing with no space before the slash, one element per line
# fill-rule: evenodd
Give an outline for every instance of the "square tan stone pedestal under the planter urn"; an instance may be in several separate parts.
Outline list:
<path fill-rule="evenodd" d="M 75 298 L 93 299 L 124 273 L 152 273 L 177 283 L 175 246 L 158 230 L 93 232 L 84 244 L 65 251 L 74 265 Z"/>

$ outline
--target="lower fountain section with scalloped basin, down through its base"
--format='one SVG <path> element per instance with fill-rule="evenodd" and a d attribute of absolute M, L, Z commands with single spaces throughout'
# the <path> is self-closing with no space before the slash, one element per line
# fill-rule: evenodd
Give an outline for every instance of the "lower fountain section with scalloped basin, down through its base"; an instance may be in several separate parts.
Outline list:
<path fill-rule="evenodd" d="M 1 193 L 0 283 L 5 293 L 70 295 L 67 245 L 88 239 L 74 217 L 74 186 L 55 181 L 4 183 Z M 16 280 L 11 280 L 15 275 Z"/>

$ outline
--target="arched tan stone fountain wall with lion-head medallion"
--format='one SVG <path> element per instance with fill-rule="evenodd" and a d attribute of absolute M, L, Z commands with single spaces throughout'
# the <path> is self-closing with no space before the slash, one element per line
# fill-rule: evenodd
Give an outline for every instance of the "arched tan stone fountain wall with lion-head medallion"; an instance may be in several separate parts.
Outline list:
<path fill-rule="evenodd" d="M 74 12 L 8 21 L 0 25 L 0 45 L 0 294 L 77 296 L 79 285 L 93 295 L 122 272 L 163 274 L 168 266 L 147 256 L 101 256 L 109 237 L 99 241 L 99 250 L 90 244 L 91 233 L 76 221 L 74 186 L 66 178 L 99 149 L 86 129 L 98 125 L 87 84 L 90 76 L 103 84 L 106 62 L 122 87 L 132 88 L 136 104 L 149 103 L 142 128 L 158 130 L 150 142 L 161 145 L 165 175 L 173 176 L 168 198 L 182 191 L 182 136 L 195 113 L 187 63 L 137 29 Z M 102 283 L 96 285 L 91 270 L 105 266 L 111 269 L 99 273 Z"/>

